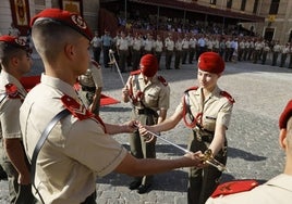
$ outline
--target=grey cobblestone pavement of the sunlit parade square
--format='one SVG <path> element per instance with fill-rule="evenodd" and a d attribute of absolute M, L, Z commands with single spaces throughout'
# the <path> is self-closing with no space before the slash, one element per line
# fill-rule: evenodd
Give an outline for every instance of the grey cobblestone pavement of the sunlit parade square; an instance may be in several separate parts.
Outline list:
<path fill-rule="evenodd" d="M 34 73 L 40 73 L 39 60 Z M 162 75 L 171 87 L 169 116 L 179 104 L 182 92 L 195 86 L 195 65 L 182 65 L 181 69 L 166 71 L 161 62 Z M 118 73 L 104 68 L 104 93 L 121 98 L 123 87 Z M 122 74 L 126 81 L 129 73 Z M 230 128 L 227 131 L 229 142 L 228 171 L 222 181 L 254 178 L 266 181 L 283 170 L 284 154 L 278 144 L 278 117 L 292 98 L 292 69 L 258 65 L 252 63 L 227 63 L 219 86 L 235 99 Z M 130 104 L 119 103 L 100 109 L 100 115 L 107 123 L 123 123 L 129 119 Z M 174 129 L 162 132 L 170 141 L 186 148 L 191 131 L 181 122 Z M 113 136 L 129 148 L 126 135 Z M 183 155 L 168 143 L 157 141 L 158 158 L 175 158 Z M 98 155 L 97 155 L 98 162 Z M 131 177 L 110 174 L 97 179 L 98 204 L 186 204 L 187 168 L 175 169 L 155 176 L 153 190 L 138 194 L 127 189 Z M 8 203 L 8 182 L 0 182 L 0 203 Z"/>

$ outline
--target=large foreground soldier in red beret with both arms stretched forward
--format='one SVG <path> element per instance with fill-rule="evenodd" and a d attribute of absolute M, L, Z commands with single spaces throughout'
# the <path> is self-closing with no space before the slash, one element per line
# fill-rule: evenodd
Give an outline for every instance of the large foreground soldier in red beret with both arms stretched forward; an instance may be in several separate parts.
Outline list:
<path fill-rule="evenodd" d="M 35 196 L 39 201 L 94 204 L 97 177 L 112 171 L 136 177 L 202 165 L 199 152 L 175 160 L 135 158 L 110 136 L 135 131 L 134 122 L 107 124 L 82 104 L 74 84 L 88 68 L 93 37 L 82 16 L 46 9 L 32 18 L 31 25 L 45 73 L 40 84 L 27 93 L 20 122 L 29 160 L 36 145 L 41 144 L 42 132 L 47 132 L 47 138 L 40 140 L 44 145 L 34 154 L 35 162 L 32 161 L 36 167 L 33 180 L 38 194 Z M 59 119 L 60 113 L 66 115 Z M 56 126 L 51 126 L 52 122 Z"/>

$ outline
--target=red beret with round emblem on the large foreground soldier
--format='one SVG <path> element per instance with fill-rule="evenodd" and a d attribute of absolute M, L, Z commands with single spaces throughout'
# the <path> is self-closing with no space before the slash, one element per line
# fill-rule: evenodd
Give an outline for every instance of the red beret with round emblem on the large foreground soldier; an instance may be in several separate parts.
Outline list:
<path fill-rule="evenodd" d="M 75 29 L 76 31 L 85 36 L 88 40 L 93 39 L 93 33 L 82 16 L 80 16 L 77 13 L 71 13 L 69 11 L 63 11 L 60 9 L 42 10 L 40 13 L 38 13 L 32 18 L 31 26 L 33 27 L 33 25 L 38 21 L 48 18 Z"/>

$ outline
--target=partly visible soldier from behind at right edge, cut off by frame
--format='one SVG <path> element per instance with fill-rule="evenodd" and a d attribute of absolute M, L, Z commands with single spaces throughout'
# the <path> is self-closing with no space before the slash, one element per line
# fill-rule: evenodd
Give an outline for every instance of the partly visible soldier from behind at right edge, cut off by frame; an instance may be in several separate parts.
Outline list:
<path fill-rule="evenodd" d="M 266 183 L 256 187 L 251 183 L 233 182 L 220 184 L 206 204 L 290 204 L 292 201 L 292 101 L 284 107 L 279 118 L 279 143 L 285 152 L 285 167 L 280 174 Z M 227 187 L 227 188 L 226 188 Z M 253 189 L 254 188 L 254 189 Z"/>

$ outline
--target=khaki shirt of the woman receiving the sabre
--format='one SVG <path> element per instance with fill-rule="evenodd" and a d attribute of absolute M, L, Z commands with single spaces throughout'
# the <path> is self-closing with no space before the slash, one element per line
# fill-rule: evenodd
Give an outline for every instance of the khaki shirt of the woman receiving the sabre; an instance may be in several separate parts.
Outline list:
<path fill-rule="evenodd" d="M 216 124 L 221 124 L 228 128 L 233 103 L 231 103 L 228 98 L 220 94 L 221 90 L 219 87 L 216 87 L 210 95 L 206 97 L 204 102 L 202 91 L 203 88 L 188 91 L 192 115 L 196 117 L 198 114 L 203 114 L 202 122 L 198 123 L 206 130 L 215 131 Z M 182 111 L 183 103 L 180 103 L 175 112 Z"/>

